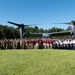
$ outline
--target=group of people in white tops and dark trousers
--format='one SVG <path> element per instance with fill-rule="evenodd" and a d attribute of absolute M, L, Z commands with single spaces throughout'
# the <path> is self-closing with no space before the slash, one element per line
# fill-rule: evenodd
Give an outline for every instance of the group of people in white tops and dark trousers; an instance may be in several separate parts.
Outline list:
<path fill-rule="evenodd" d="M 56 39 L 53 42 L 54 49 L 75 49 L 75 39 Z"/>

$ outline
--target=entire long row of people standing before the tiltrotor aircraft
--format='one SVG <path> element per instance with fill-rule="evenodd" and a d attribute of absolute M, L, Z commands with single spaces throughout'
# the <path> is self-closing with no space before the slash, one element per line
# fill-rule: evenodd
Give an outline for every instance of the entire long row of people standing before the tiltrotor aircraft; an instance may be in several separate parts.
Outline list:
<path fill-rule="evenodd" d="M 75 39 L 0 39 L 0 49 L 75 49 Z"/>

